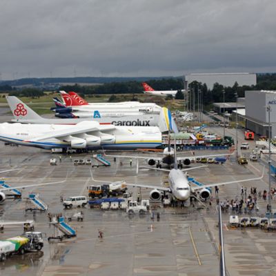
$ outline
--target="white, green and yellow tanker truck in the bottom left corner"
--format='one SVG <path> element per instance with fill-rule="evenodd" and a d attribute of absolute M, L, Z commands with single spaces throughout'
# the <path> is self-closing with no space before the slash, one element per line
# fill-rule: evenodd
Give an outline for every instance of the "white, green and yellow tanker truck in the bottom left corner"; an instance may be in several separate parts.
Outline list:
<path fill-rule="evenodd" d="M 5 261 L 6 257 L 14 254 L 25 254 L 33 250 L 43 248 L 43 238 L 41 232 L 26 232 L 21 236 L 11 237 L 0 241 L 0 261 Z"/>

